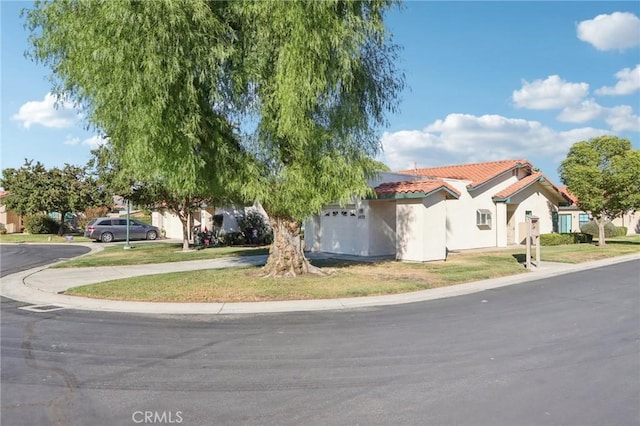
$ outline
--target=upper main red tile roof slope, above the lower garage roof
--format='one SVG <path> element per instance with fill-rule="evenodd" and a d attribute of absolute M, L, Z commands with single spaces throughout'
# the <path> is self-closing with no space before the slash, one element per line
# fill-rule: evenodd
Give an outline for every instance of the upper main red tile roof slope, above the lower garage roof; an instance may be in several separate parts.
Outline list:
<path fill-rule="evenodd" d="M 470 180 L 469 188 L 475 188 L 509 170 L 519 167 L 531 167 L 527 160 L 503 160 L 487 163 L 459 164 L 453 166 L 431 167 L 425 169 L 402 170 L 400 173 L 428 177 Z"/>

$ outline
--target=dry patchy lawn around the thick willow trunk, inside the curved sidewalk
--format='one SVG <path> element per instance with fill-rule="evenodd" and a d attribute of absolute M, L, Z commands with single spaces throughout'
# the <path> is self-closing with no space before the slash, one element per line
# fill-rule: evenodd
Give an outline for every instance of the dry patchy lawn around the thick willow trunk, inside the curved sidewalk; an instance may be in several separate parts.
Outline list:
<path fill-rule="evenodd" d="M 154 302 L 255 302 L 406 293 L 484 278 L 525 273 L 512 256 L 459 255 L 447 262 L 314 262 L 329 276 L 262 278 L 260 268 L 141 276 L 75 287 L 65 294 Z"/>

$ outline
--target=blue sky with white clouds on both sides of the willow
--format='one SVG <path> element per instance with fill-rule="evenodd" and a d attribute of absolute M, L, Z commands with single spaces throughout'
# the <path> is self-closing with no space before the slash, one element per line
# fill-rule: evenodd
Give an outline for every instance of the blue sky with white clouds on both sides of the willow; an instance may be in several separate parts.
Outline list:
<path fill-rule="evenodd" d="M 100 139 L 53 107 L 48 70 L 24 57 L 30 6 L 1 2 L 0 165 L 85 164 Z M 640 149 L 640 2 L 414 1 L 388 25 L 407 83 L 380 131 L 394 170 L 526 158 L 559 184 L 577 141 Z"/>

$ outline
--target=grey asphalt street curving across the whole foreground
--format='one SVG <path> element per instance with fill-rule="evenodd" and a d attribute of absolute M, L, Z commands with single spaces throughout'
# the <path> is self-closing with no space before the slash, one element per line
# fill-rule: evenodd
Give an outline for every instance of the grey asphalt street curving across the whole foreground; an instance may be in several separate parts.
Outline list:
<path fill-rule="evenodd" d="M 3 425 L 640 424 L 638 261 L 341 312 L 21 305 L 0 311 Z"/>

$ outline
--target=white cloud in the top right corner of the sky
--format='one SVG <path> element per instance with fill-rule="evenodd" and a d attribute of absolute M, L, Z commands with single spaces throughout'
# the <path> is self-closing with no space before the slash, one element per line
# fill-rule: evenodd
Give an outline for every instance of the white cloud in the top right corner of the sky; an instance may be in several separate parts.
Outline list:
<path fill-rule="evenodd" d="M 640 45 L 640 19 L 633 13 L 614 12 L 582 21 L 578 38 L 598 50 L 624 50 Z"/>

